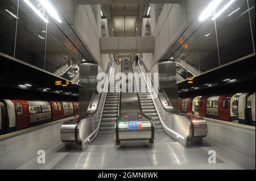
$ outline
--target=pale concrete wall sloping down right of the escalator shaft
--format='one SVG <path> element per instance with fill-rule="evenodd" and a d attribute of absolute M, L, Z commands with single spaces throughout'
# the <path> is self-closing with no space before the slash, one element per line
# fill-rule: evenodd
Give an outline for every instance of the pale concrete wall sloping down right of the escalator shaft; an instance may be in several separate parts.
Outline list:
<path fill-rule="evenodd" d="M 188 26 L 199 16 L 209 0 L 182 0 L 180 4 L 165 4 L 155 22 L 155 5 L 150 5 L 151 36 L 154 36 L 154 53 L 144 53 L 143 61 L 147 69 L 151 70 L 168 49 L 174 45 Z"/>

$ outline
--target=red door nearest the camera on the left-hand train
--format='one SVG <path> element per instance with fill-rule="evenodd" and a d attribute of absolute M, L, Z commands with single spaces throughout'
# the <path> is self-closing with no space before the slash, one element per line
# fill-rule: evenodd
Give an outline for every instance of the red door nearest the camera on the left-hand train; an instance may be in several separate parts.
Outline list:
<path fill-rule="evenodd" d="M 30 124 L 28 104 L 24 100 L 11 100 L 15 106 L 16 131 L 26 129 Z"/>

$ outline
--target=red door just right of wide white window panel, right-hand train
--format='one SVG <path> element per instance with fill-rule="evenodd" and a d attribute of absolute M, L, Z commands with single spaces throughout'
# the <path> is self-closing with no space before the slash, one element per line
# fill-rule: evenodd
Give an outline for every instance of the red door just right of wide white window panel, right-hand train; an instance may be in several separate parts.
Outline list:
<path fill-rule="evenodd" d="M 218 119 L 230 121 L 229 100 L 230 95 L 221 95 L 220 98 L 218 98 Z"/>

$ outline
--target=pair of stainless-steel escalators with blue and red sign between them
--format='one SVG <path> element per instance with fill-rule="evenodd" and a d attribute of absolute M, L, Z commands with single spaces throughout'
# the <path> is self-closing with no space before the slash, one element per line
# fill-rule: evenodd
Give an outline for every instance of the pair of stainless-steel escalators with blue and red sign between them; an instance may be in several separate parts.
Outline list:
<path fill-rule="evenodd" d="M 134 81 L 116 78 L 116 74 L 121 71 L 126 77 L 129 77 L 129 73 L 134 73 Z M 148 89 L 145 78 L 147 75 L 143 71 L 140 64 L 133 66 L 127 60 L 122 62 L 122 66 L 112 64 L 109 76 L 104 81 L 106 86 L 103 86 L 108 87 L 108 91 L 100 93 L 98 100 L 94 100 L 97 102 L 96 111 L 78 123 L 63 123 L 61 141 L 65 142 L 66 147 L 68 144 L 75 144 L 86 149 L 89 144 L 110 145 L 113 142 L 115 146 L 121 146 L 122 141 L 136 140 L 147 140 L 148 145 L 151 145 L 154 140 L 164 142 L 172 138 L 181 145 L 201 144 L 203 137 L 207 136 L 205 120 L 168 112 L 160 94 L 152 98 L 152 90 Z M 131 81 L 137 93 L 134 90 L 127 92 L 129 87 L 127 89 L 123 82 Z M 121 87 L 126 91 L 119 93 Z"/>

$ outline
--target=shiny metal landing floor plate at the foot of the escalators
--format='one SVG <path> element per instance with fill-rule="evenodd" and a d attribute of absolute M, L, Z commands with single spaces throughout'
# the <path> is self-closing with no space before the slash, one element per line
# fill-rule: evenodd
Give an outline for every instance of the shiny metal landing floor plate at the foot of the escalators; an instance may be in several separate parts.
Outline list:
<path fill-rule="evenodd" d="M 127 144 L 114 149 L 113 134 L 98 134 L 86 151 L 69 152 L 52 169 L 163 169 L 208 164 L 207 151 L 199 146 L 185 148 L 164 132 L 155 134 L 155 144 L 151 148 L 147 142 Z M 217 159 L 217 163 L 222 161 Z"/>

